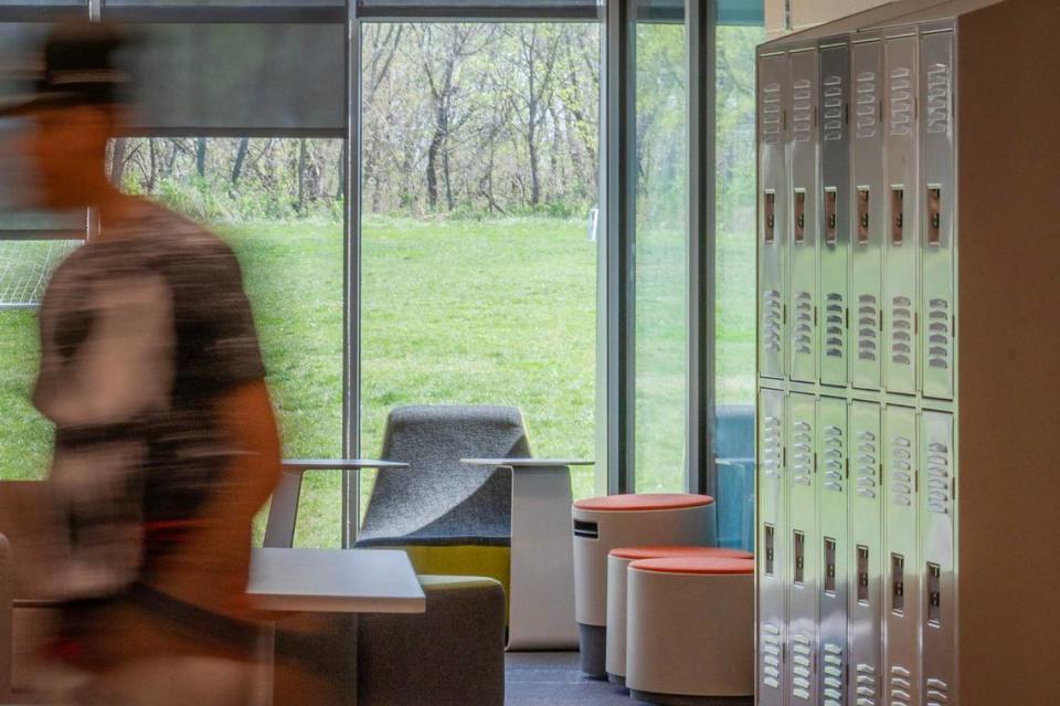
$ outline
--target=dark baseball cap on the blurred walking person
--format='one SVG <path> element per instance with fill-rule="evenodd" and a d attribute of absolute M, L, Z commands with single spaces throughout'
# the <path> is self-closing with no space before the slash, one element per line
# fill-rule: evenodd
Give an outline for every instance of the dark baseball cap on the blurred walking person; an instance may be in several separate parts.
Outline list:
<path fill-rule="evenodd" d="M 115 54 L 126 44 L 127 38 L 106 22 L 54 24 L 44 43 L 43 71 L 34 92 L 0 105 L 0 117 L 50 107 L 125 103 L 129 76 L 115 64 Z"/>

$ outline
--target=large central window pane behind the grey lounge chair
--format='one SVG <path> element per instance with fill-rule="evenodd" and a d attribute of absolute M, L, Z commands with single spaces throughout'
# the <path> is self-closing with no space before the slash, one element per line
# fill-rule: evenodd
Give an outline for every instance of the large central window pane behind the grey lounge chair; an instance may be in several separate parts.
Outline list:
<path fill-rule="evenodd" d="M 592 459 L 598 25 L 369 24 L 361 48 L 362 453 L 394 407 L 504 404 L 534 455 Z"/>

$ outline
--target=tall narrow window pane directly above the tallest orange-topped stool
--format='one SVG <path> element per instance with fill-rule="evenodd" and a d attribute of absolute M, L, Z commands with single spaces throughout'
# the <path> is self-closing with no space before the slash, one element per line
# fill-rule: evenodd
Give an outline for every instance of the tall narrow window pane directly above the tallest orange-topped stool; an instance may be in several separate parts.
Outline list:
<path fill-rule="evenodd" d="M 686 487 L 688 70 L 681 22 L 636 23 L 636 488 Z"/>

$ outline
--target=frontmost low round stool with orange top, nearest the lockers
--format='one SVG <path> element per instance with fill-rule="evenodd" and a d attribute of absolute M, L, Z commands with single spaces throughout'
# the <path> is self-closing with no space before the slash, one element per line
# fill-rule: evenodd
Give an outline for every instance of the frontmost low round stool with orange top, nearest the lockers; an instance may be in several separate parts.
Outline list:
<path fill-rule="evenodd" d="M 754 702 L 754 561 L 629 565 L 626 686 L 653 704 Z"/>

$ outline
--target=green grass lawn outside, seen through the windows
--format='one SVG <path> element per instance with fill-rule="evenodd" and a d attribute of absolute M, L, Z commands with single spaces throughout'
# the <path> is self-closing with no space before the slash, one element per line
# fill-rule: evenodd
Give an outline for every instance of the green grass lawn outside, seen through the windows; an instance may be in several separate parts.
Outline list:
<path fill-rule="evenodd" d="M 218 230 L 243 264 L 285 453 L 338 456 L 341 228 L 300 221 Z M 494 403 L 522 409 L 537 455 L 595 456 L 596 245 L 586 240 L 581 220 L 369 218 L 362 230 L 363 455 L 379 453 L 386 412 L 394 405 Z M 753 241 L 723 238 L 719 256 L 733 273 L 724 278 L 719 296 L 720 401 L 751 402 Z M 655 278 L 665 283 L 667 276 L 664 266 Z M 643 310 L 640 316 L 644 340 L 661 341 L 658 355 L 672 356 L 672 341 L 683 337 L 674 327 L 683 326 L 683 320 L 671 314 L 650 317 Z M 651 361 L 654 345 L 642 346 L 639 355 Z M 28 402 L 36 356 L 35 315 L 0 310 L 2 478 L 40 477 L 46 470 L 50 430 Z M 682 430 L 670 433 L 668 419 L 679 411 L 675 401 L 683 403 L 683 389 L 675 378 L 672 359 L 651 366 L 665 375 L 661 380 L 645 377 L 638 399 L 647 396 L 644 404 L 665 417 L 651 424 L 662 431 L 653 432 L 650 443 L 657 445 L 648 447 L 648 455 L 679 457 Z M 674 477 L 670 462 L 645 461 L 645 487 L 662 487 Z M 318 473 L 307 478 L 296 540 L 336 546 L 339 477 Z M 365 476 L 364 497 L 370 485 L 371 476 Z M 580 496 L 594 492 L 592 468 L 574 472 L 574 491 Z"/>

